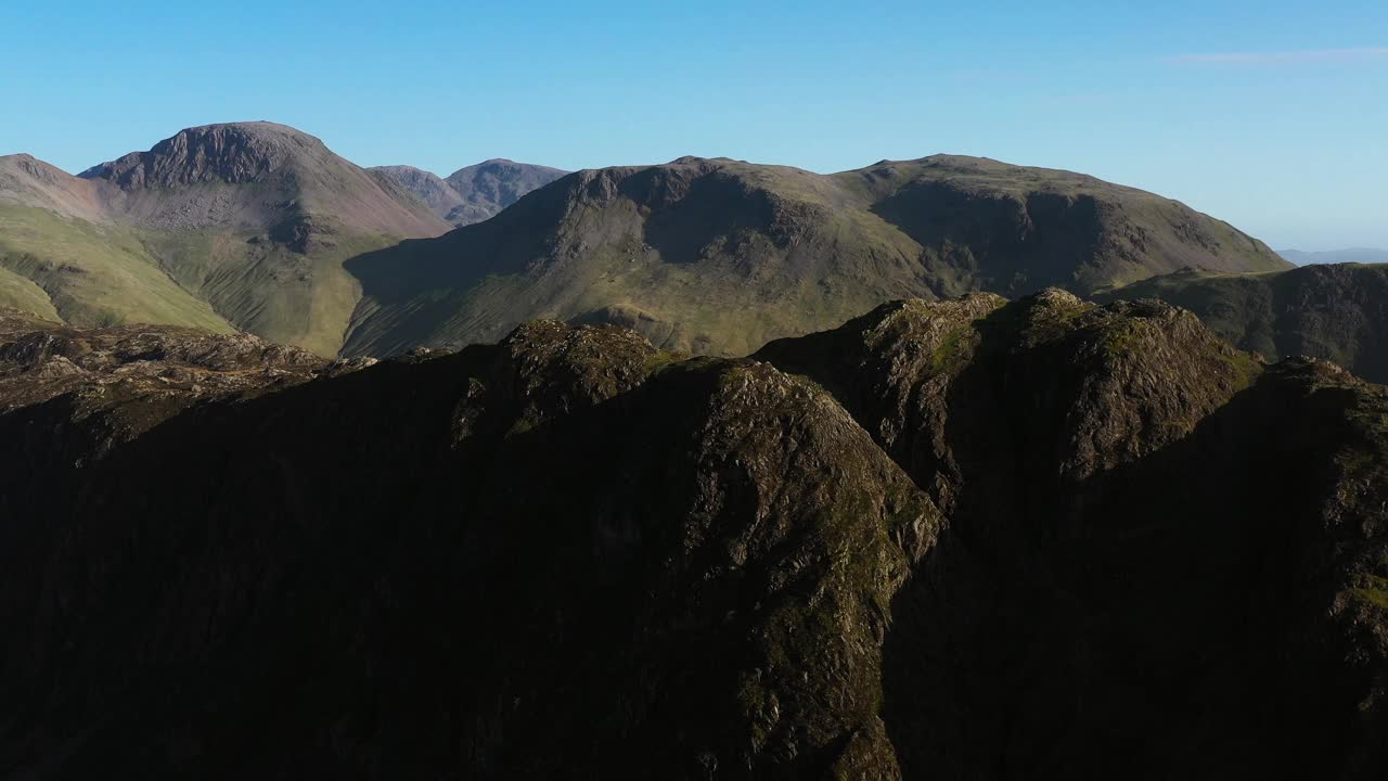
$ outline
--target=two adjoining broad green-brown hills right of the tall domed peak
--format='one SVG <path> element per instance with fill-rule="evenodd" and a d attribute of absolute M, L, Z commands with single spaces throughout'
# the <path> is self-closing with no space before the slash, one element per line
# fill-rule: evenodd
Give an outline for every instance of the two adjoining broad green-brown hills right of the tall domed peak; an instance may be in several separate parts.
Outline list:
<path fill-rule="evenodd" d="M 1087 292 L 1187 264 L 1288 264 L 1149 193 L 1060 171 L 934 157 L 820 176 L 731 160 L 582 171 L 484 225 L 351 264 L 344 350 L 500 338 L 555 317 L 743 354 L 884 300 Z"/>

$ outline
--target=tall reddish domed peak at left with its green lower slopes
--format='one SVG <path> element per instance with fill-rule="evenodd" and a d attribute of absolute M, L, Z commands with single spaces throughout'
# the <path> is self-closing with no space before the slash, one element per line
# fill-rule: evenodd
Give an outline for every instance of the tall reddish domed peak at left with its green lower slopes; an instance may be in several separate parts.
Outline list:
<path fill-rule="evenodd" d="M 343 263 L 451 227 L 405 183 L 272 122 L 190 128 L 81 176 L 0 157 L 0 304 L 332 356 L 361 297 Z"/>

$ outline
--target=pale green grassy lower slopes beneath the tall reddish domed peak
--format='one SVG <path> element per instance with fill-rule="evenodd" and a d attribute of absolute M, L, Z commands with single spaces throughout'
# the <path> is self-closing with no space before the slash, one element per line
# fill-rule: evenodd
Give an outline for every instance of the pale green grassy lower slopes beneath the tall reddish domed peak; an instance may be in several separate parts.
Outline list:
<path fill-rule="evenodd" d="M 151 322 L 237 329 L 323 356 L 361 296 L 350 257 L 394 243 L 333 235 L 307 254 L 233 229 L 97 225 L 0 208 L 0 304 L 74 325 Z"/>

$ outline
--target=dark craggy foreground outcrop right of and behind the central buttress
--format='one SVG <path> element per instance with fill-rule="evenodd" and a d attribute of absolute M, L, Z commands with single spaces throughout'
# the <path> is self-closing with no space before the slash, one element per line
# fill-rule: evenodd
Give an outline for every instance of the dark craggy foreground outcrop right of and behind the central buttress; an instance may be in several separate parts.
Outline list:
<path fill-rule="evenodd" d="M 949 518 L 884 646 L 904 775 L 1382 773 L 1382 392 L 1264 371 L 1165 304 L 999 306 L 759 354 L 834 388 Z"/>

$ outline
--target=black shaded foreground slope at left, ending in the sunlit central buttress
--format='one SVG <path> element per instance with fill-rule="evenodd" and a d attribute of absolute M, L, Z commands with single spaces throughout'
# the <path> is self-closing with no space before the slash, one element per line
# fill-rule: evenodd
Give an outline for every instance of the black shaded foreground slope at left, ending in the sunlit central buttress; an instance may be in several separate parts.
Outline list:
<path fill-rule="evenodd" d="M 167 403 L 81 420 L 71 404 L 0 429 L 101 431 Z M 0 767 L 894 775 L 876 714 L 906 566 L 892 538 L 924 545 L 936 516 L 808 384 L 536 324 L 500 347 L 164 409 L 89 467 L 44 472 L 43 493 L 0 493 L 35 509 L 4 531 L 0 605 L 33 642 L 0 673 L 25 707 Z M 60 454 L 0 442 L 7 466 Z M 67 507 L 26 504 L 76 486 Z M 49 534 L 62 517 L 71 543 Z"/>

